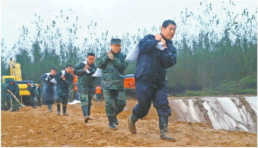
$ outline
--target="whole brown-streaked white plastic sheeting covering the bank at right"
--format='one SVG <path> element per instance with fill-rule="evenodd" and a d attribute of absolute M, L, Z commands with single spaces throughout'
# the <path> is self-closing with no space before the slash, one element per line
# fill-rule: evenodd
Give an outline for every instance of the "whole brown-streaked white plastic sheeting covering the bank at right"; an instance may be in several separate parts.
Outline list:
<path fill-rule="evenodd" d="M 248 110 L 238 98 L 204 97 L 197 99 L 170 99 L 176 120 L 183 122 L 210 122 L 214 129 L 257 133 L 257 97 L 245 97 Z M 245 105 L 248 105 L 245 104 Z"/>

